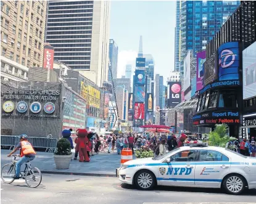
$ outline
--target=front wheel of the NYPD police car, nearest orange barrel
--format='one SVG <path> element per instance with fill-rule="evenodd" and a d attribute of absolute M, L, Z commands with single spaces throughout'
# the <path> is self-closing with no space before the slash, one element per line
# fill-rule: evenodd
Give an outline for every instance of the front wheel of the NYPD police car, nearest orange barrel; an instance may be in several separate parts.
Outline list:
<path fill-rule="evenodd" d="M 136 174 L 134 183 L 138 189 L 150 190 L 155 186 L 155 176 L 151 171 L 142 170 Z"/>

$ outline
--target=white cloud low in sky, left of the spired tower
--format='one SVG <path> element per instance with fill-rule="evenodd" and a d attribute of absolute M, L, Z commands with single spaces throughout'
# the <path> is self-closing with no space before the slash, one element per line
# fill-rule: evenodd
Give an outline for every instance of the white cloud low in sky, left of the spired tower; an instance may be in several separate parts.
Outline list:
<path fill-rule="evenodd" d="M 118 52 L 118 63 L 117 63 L 117 77 L 121 78 L 125 75 L 125 66 L 131 64 L 133 71 L 135 70 L 135 62 L 138 52 L 136 51 L 120 51 Z"/>

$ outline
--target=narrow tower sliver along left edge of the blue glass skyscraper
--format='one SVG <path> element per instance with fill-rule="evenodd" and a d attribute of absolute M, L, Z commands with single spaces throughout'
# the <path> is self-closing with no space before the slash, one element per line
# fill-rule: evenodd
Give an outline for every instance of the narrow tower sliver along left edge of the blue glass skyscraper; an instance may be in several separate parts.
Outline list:
<path fill-rule="evenodd" d="M 180 71 L 180 1 L 176 1 L 175 71 Z"/>

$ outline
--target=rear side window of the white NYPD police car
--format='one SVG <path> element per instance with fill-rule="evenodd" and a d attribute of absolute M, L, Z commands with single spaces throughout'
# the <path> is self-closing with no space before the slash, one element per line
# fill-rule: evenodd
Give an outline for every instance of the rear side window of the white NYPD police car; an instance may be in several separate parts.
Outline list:
<path fill-rule="evenodd" d="M 229 161 L 229 158 L 217 151 L 199 150 L 199 161 Z"/>

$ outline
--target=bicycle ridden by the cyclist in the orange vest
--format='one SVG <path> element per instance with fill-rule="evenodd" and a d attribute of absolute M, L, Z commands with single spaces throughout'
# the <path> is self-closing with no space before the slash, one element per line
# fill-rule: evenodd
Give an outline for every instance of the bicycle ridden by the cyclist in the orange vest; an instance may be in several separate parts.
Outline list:
<path fill-rule="evenodd" d="M 17 163 L 16 158 L 18 156 L 12 155 L 12 157 L 13 157 L 12 162 L 7 163 L 6 165 L 2 166 L 2 169 L 1 169 L 1 179 L 6 184 L 11 184 L 12 182 L 14 182 L 13 176 L 15 176 L 16 163 Z M 7 173 L 5 173 L 6 170 L 7 170 Z M 25 169 L 24 169 L 24 171 L 20 172 L 20 177 L 22 179 L 25 179 L 27 186 L 31 187 L 31 188 L 38 187 L 42 181 L 41 171 L 36 167 L 32 167 L 30 161 L 25 163 Z M 31 181 L 30 181 L 30 179 L 31 179 Z M 33 182 L 35 182 L 34 185 L 33 185 Z"/>

